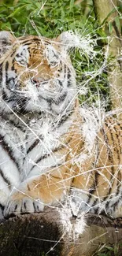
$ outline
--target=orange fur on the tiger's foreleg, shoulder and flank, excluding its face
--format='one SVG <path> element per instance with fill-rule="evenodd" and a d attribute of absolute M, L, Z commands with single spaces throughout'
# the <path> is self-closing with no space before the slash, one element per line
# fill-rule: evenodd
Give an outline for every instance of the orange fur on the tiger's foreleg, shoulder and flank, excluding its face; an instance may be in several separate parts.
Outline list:
<path fill-rule="evenodd" d="M 116 133 L 114 134 L 113 128 L 105 128 L 105 135 L 108 135 L 109 130 L 113 132 L 113 137 L 115 136 L 115 147 L 111 145 L 111 139 L 109 138 L 109 147 L 112 149 L 112 155 L 114 157 L 114 162 L 110 161 L 109 154 L 107 150 L 107 145 L 105 144 L 105 139 L 103 138 L 102 132 L 98 133 L 98 146 L 101 148 L 100 154 L 98 156 L 98 163 L 93 168 L 93 163 L 95 161 L 94 154 L 91 158 L 87 159 L 83 164 L 76 165 L 72 163 L 72 159 L 79 155 L 83 150 L 83 141 L 81 132 L 79 132 L 80 125 L 82 125 L 82 120 L 79 118 L 78 113 L 79 106 L 76 107 L 76 118 L 74 118 L 74 124 L 70 128 L 68 134 L 63 138 L 65 141 L 69 141 L 68 148 L 65 148 L 60 152 L 60 154 L 65 154 L 65 163 L 60 167 L 51 169 L 50 172 L 39 176 L 39 178 L 32 180 L 28 184 L 28 190 L 24 191 L 25 195 L 31 198 L 41 198 L 41 201 L 46 204 L 54 204 L 59 200 L 63 199 L 66 193 L 70 190 L 70 187 L 76 187 L 84 191 L 89 191 L 91 185 L 95 181 L 95 174 L 99 173 L 98 180 L 96 180 L 96 187 L 94 191 L 94 196 L 98 198 L 105 198 L 111 187 L 111 192 L 116 191 L 117 184 L 121 184 L 121 170 L 118 169 L 118 165 L 122 165 L 122 157 L 120 156 L 120 162 L 118 162 L 116 154 L 117 139 Z M 115 125 L 116 126 L 116 125 Z M 75 131 L 75 132 L 74 132 Z M 62 138 L 61 138 L 62 139 Z M 120 144 L 122 143 L 122 138 L 120 137 Z M 95 144 L 95 142 L 94 142 Z M 118 148 L 120 150 L 120 148 Z M 114 172 L 113 172 L 114 170 Z M 13 200 L 22 199 L 24 194 L 17 192 L 13 195 Z M 120 217 L 122 214 L 122 209 L 120 208 L 116 212 L 116 217 Z"/>

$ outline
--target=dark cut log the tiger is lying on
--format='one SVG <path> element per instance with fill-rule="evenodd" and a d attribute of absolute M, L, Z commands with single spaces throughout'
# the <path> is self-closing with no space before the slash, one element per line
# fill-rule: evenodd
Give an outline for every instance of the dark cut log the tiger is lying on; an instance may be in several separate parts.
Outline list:
<path fill-rule="evenodd" d="M 62 219 L 58 209 L 47 207 L 43 213 L 11 217 L 0 224 L 0 255 L 91 256 L 104 244 L 112 246 L 122 241 L 122 219 L 94 214 L 82 218 L 86 227 L 75 234 L 77 218 L 68 219 L 66 213 Z M 122 248 L 117 255 L 122 255 Z"/>

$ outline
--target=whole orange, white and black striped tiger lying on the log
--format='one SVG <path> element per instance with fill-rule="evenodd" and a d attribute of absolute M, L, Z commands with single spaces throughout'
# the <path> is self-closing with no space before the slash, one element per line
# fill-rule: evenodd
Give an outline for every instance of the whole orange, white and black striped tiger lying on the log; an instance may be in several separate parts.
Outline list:
<path fill-rule="evenodd" d="M 72 36 L 0 32 L 1 221 L 65 200 L 77 214 L 122 216 L 122 124 L 79 104 Z"/>

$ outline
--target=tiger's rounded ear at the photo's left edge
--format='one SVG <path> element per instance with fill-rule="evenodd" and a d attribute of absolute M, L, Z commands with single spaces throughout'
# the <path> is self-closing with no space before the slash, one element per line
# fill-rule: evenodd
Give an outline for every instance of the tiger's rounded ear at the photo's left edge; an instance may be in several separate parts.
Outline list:
<path fill-rule="evenodd" d="M 10 32 L 0 32 L 0 58 L 2 58 L 2 55 L 5 54 L 7 50 L 9 50 L 9 46 L 11 46 L 14 41 L 15 38 Z"/>

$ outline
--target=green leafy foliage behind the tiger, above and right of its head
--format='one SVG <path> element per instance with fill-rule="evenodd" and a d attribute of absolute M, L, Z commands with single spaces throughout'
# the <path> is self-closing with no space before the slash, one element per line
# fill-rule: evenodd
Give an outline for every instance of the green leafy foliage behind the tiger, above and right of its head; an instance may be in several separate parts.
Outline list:
<path fill-rule="evenodd" d="M 12 31 L 16 36 L 40 34 L 53 38 L 63 31 L 78 30 L 82 36 L 91 35 L 92 39 L 97 39 L 94 58 L 76 50 L 71 53 L 72 62 L 79 87 L 85 84 L 87 88 L 85 95 L 82 90 L 80 101 L 96 106 L 100 98 L 105 107 L 110 108 L 106 70 L 98 72 L 104 61 L 105 32 L 95 18 L 92 0 L 1 0 L 0 3 L 0 29 Z"/>

